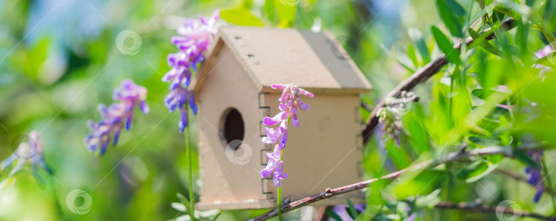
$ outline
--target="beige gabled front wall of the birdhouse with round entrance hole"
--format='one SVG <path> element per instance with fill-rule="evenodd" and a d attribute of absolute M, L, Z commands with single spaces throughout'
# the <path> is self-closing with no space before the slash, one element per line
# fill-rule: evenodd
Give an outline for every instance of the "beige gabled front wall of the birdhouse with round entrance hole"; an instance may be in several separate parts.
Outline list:
<path fill-rule="evenodd" d="M 198 79 L 201 87 L 197 92 L 202 181 L 199 207 L 271 207 L 269 202 L 267 205 L 258 202 L 266 200 L 268 195 L 262 190 L 259 174 L 260 153 L 264 148 L 259 122 L 266 116 L 266 110 L 259 108 L 258 89 L 226 45 L 202 68 L 200 71 L 207 73 Z M 227 152 L 226 135 L 237 133 L 241 123 L 235 122 L 235 125 L 229 125 L 228 131 L 224 130 L 225 115 L 230 109 L 236 109 L 242 118 L 244 135 L 237 139 L 244 143 L 238 150 Z"/>

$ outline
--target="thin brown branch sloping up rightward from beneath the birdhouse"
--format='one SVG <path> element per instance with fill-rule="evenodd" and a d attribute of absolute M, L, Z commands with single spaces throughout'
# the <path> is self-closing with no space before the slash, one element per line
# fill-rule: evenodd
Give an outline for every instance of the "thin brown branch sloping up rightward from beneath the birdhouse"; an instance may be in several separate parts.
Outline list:
<path fill-rule="evenodd" d="M 520 148 L 520 149 L 522 151 L 533 151 L 533 150 L 546 149 L 546 148 L 544 146 L 529 146 L 529 147 L 523 147 L 523 148 Z M 451 162 L 451 161 L 459 161 L 461 159 L 467 159 L 467 158 L 473 157 L 473 156 L 499 155 L 499 154 L 504 155 L 506 157 L 514 157 L 512 149 L 510 147 L 503 147 L 503 146 L 489 146 L 489 147 L 485 147 L 485 148 L 473 149 L 471 151 L 456 151 L 454 153 L 450 153 L 447 156 L 441 157 L 439 159 L 429 159 L 427 161 L 423 161 L 419 164 L 416 164 L 415 166 L 411 166 L 409 168 L 405 168 L 403 170 L 399 170 L 397 172 L 393 172 L 391 174 L 384 175 L 383 177 L 380 177 L 380 179 L 394 179 L 396 177 L 399 177 L 399 175 L 404 174 L 404 172 L 406 172 L 406 171 L 420 170 L 422 168 L 432 168 L 432 167 L 438 166 L 440 164 L 445 164 L 445 163 L 448 163 L 448 162 Z M 292 203 L 281 205 L 281 212 L 282 213 L 287 213 L 288 211 L 292 211 L 292 210 L 297 209 L 299 207 L 304 207 L 306 205 L 310 205 L 311 203 L 315 203 L 316 201 L 323 200 L 325 198 L 330 198 L 332 196 L 338 196 L 340 194 L 345 194 L 347 192 L 353 192 L 353 191 L 356 191 L 356 190 L 361 190 L 365 187 L 368 187 L 372 183 L 375 183 L 378 180 L 379 179 L 375 178 L 375 179 L 369 179 L 367 181 L 362 181 L 362 182 L 359 182 L 359 183 L 346 185 L 346 186 L 343 186 L 343 187 L 338 187 L 338 188 L 335 188 L 335 189 L 327 188 L 324 192 L 314 194 L 312 196 L 308 196 L 308 197 L 302 198 L 300 200 L 293 201 Z M 257 216 L 257 217 L 255 217 L 251 220 L 252 221 L 268 220 L 268 219 L 273 218 L 275 216 L 278 216 L 278 209 L 273 209 L 271 211 L 268 211 L 267 213 L 264 213 L 261 216 Z"/>

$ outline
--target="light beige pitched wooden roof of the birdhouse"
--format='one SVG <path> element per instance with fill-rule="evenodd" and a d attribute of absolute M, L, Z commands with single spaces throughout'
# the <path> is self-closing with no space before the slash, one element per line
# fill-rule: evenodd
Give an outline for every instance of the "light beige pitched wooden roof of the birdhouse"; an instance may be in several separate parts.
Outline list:
<path fill-rule="evenodd" d="M 331 37 L 327 32 L 301 29 L 223 26 L 207 58 L 227 45 L 262 92 L 270 92 L 275 83 L 296 83 L 321 93 L 370 92 L 371 84 Z"/>

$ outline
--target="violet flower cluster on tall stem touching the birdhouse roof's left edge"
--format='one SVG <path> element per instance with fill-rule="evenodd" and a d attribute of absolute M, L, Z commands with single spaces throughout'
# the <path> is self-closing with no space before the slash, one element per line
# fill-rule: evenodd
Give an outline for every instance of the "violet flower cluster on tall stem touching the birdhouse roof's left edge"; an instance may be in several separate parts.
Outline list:
<path fill-rule="evenodd" d="M 194 92 L 187 90 L 187 87 L 191 83 L 192 72 L 197 70 L 198 64 L 205 59 L 204 52 L 218 31 L 216 22 L 219 13 L 217 9 L 208 18 L 186 18 L 183 26 L 178 27 L 177 32 L 180 36 L 174 36 L 171 40 L 180 51 L 167 57 L 168 65 L 172 69 L 162 77 L 163 82 L 170 82 L 170 93 L 164 99 L 164 103 L 170 112 L 174 112 L 176 108 L 180 110 L 181 120 L 178 127 L 182 133 L 187 127 L 187 104 L 193 113 L 197 114 Z"/>

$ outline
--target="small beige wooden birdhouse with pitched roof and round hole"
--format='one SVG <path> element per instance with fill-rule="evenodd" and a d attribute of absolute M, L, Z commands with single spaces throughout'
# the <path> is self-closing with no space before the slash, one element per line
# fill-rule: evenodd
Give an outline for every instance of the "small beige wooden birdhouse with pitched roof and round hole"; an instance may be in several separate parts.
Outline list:
<path fill-rule="evenodd" d="M 338 50 L 339 49 L 339 50 Z M 200 209 L 276 207 L 272 177 L 261 178 L 262 120 L 279 113 L 275 83 L 296 83 L 314 93 L 290 125 L 283 151 L 282 196 L 297 200 L 362 181 L 360 94 L 371 85 L 327 33 L 299 29 L 221 27 L 194 82 L 200 112 Z M 338 58 L 339 57 L 339 58 Z M 362 203 L 359 192 L 314 205 Z"/>

